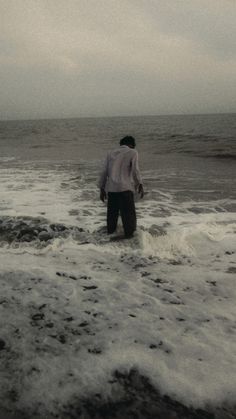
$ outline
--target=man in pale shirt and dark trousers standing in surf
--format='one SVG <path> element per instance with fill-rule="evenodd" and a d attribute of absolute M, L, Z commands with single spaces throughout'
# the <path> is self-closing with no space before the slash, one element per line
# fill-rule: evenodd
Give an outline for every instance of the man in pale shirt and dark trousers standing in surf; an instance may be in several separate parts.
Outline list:
<path fill-rule="evenodd" d="M 120 147 L 108 153 L 99 184 L 100 199 L 107 198 L 107 232 L 116 231 L 119 213 L 125 237 L 133 236 L 136 230 L 134 190 L 143 198 L 144 190 L 138 165 L 135 139 L 126 136 L 120 140 Z"/>

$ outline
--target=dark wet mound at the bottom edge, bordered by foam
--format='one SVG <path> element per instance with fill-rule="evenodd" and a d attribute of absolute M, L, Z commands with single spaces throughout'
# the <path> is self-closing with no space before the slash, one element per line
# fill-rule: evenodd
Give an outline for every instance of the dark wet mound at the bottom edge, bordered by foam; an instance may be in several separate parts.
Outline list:
<path fill-rule="evenodd" d="M 96 393 L 89 398 L 73 400 L 64 407 L 60 418 L 86 419 L 226 419 L 203 409 L 187 407 L 161 395 L 148 378 L 136 370 L 115 371 L 109 383 L 113 396 Z"/>

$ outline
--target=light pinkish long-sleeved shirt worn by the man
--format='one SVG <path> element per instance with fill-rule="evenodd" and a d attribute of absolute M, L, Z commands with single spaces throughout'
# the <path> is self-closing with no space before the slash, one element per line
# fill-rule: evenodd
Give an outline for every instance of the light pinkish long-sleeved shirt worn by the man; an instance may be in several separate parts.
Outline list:
<path fill-rule="evenodd" d="M 98 183 L 107 192 L 134 191 L 142 183 L 138 152 L 127 145 L 110 151 Z"/>

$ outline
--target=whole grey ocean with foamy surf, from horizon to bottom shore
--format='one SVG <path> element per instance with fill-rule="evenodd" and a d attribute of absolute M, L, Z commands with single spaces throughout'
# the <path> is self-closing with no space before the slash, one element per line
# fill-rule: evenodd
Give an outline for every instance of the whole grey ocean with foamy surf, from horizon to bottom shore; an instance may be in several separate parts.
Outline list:
<path fill-rule="evenodd" d="M 145 195 L 111 242 L 97 181 L 125 135 Z M 2 409 L 90 418 L 135 371 L 199 418 L 234 414 L 236 114 L 1 121 L 0 174 Z"/>

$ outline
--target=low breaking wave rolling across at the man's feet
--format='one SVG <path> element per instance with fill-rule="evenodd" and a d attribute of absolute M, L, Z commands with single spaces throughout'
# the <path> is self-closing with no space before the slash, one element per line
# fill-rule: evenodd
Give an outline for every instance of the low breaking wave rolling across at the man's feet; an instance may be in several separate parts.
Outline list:
<path fill-rule="evenodd" d="M 139 227 L 129 240 L 106 228 L 90 232 L 78 226 L 50 223 L 38 217 L 2 217 L 0 219 L 1 246 L 33 249 L 56 249 L 80 245 L 84 250 L 94 249 L 111 254 L 141 254 L 172 261 L 209 257 L 231 251 L 234 247 L 236 220 L 231 223 L 199 222 L 198 224 Z"/>

